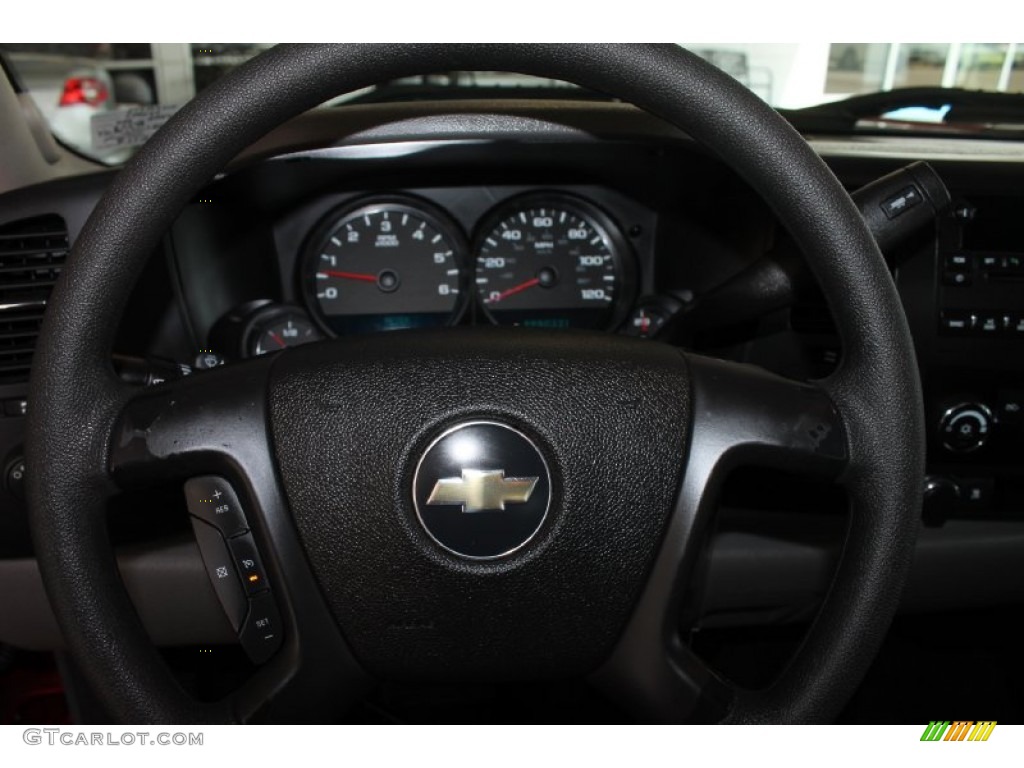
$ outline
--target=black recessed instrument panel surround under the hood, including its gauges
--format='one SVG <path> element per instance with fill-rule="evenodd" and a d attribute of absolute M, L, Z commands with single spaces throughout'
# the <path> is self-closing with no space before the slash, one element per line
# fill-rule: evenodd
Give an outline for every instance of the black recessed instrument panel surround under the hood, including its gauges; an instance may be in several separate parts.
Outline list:
<path fill-rule="evenodd" d="M 373 163 L 355 184 L 353 155 Z M 182 299 L 198 337 L 228 358 L 454 325 L 651 336 L 757 249 L 737 253 L 736 212 L 709 225 L 707 201 L 672 189 L 663 161 L 662 150 L 635 142 L 610 161 L 597 145 L 509 144 L 496 155 L 489 142 L 458 141 L 276 158 L 184 212 L 170 233 Z M 742 206 L 753 213 L 753 203 Z M 677 216 L 679 207 L 693 213 Z M 712 259 L 675 258 L 686 252 Z"/>

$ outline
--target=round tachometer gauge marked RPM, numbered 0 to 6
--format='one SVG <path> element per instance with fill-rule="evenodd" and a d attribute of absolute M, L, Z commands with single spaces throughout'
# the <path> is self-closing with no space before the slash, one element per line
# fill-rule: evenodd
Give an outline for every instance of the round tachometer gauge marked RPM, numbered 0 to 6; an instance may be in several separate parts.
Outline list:
<path fill-rule="evenodd" d="M 443 326 L 462 308 L 464 252 L 456 226 L 418 201 L 364 202 L 318 229 L 302 281 L 336 334 Z"/>

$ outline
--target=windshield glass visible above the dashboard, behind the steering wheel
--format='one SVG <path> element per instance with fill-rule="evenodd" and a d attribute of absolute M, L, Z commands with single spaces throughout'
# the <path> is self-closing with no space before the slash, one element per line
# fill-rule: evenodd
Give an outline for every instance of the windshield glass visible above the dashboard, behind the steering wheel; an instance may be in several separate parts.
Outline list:
<path fill-rule="evenodd" d="M 937 89 L 1024 91 L 1021 43 L 682 43 L 780 110 L 803 110 L 869 93 L 916 88 L 910 101 L 868 102 L 849 129 L 879 120 L 949 122 Z M 0 43 L 15 87 L 29 94 L 66 146 L 109 165 L 127 160 L 175 110 L 266 43 Z M 566 83 L 507 73 L 437 73 L 382 83 L 325 104 L 473 98 L 600 98 Z M 924 94 L 928 94 L 927 97 Z M 881 102 L 879 102 L 881 103 Z M 862 106 L 862 109 L 864 109 Z M 1020 127 L 1024 118 L 976 119 Z M 977 111 L 971 113 L 978 118 Z M 986 112 L 980 113 L 987 118 Z M 866 119 L 866 120 L 865 120 Z M 895 124 L 895 123 L 892 123 Z M 825 125 L 815 123 L 817 127 Z M 888 124 L 887 124 L 888 125 Z M 882 126 L 884 127 L 884 126 Z"/>

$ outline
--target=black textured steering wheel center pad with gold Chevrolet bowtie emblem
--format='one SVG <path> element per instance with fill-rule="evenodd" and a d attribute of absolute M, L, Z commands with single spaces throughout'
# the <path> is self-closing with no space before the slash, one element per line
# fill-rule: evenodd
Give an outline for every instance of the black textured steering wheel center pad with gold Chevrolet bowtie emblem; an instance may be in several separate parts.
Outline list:
<path fill-rule="evenodd" d="M 536 329 L 386 342 L 300 347 L 270 377 L 285 492 L 354 653 L 406 679 L 594 669 L 676 497 L 685 358 Z"/>

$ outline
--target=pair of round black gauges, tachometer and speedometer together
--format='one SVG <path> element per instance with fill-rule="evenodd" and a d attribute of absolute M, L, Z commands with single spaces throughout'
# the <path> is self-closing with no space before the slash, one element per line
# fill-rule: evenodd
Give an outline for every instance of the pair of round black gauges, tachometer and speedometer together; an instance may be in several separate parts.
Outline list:
<path fill-rule="evenodd" d="M 331 211 L 307 239 L 299 284 L 328 335 L 460 322 L 614 330 L 635 293 L 635 257 L 599 207 L 560 193 L 497 205 L 464 233 L 411 196 Z"/>

